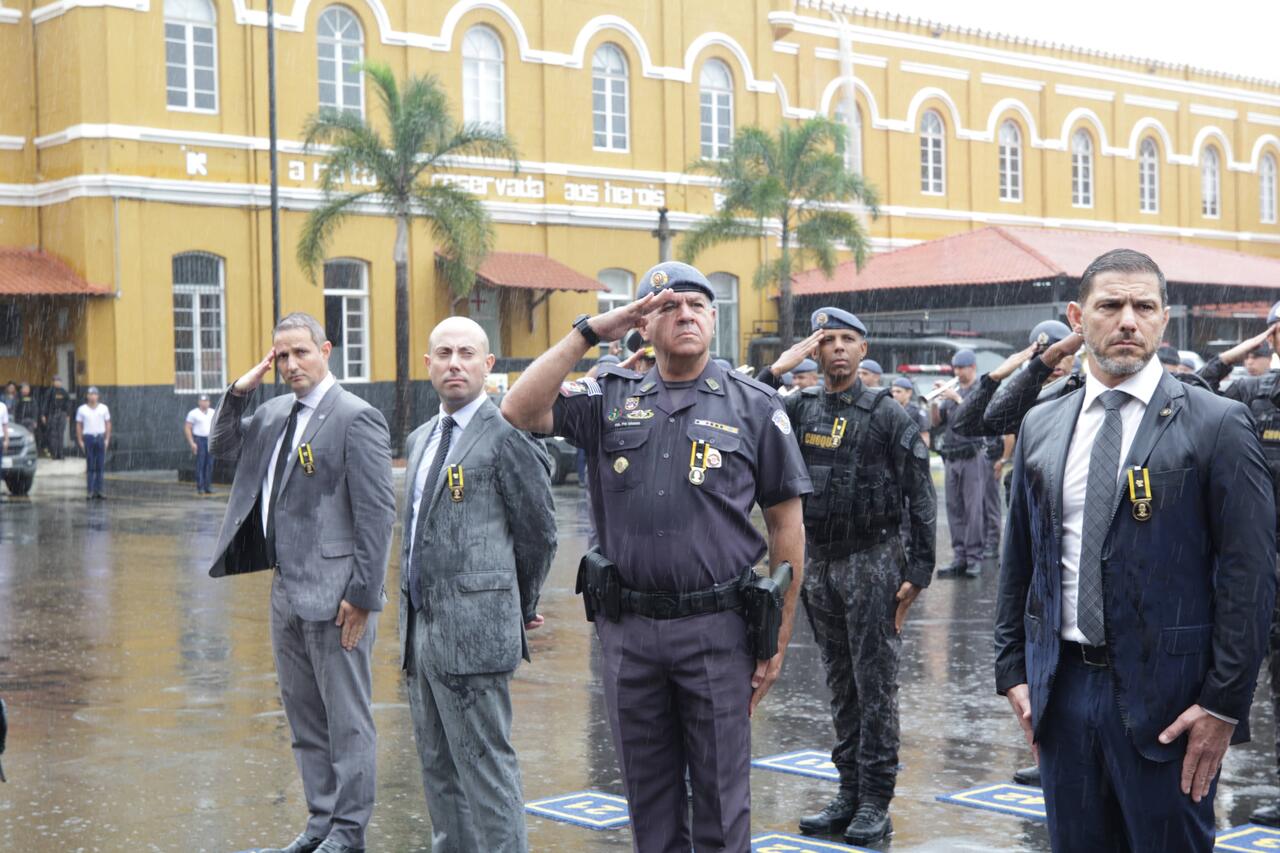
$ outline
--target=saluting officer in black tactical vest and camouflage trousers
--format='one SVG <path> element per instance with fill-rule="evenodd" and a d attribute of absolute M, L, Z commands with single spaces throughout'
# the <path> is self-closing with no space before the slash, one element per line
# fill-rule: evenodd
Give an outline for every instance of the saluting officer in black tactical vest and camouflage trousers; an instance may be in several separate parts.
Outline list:
<path fill-rule="evenodd" d="M 832 693 L 831 761 L 840 771 L 836 798 L 801 818 L 800 831 L 844 831 L 851 844 L 870 844 L 893 833 L 902 621 L 933 576 L 937 494 L 918 421 L 887 388 L 864 384 L 867 327 L 836 307 L 814 311 L 810 327 L 769 369 L 781 375 L 808 345 L 824 378 L 823 388 L 785 403 L 814 485 L 804 508 L 801 597 Z M 899 538 L 904 511 L 908 552 Z"/>

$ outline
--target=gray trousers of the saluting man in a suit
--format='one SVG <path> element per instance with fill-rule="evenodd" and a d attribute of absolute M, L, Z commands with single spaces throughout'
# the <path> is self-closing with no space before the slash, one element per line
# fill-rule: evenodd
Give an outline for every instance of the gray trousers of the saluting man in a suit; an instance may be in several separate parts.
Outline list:
<path fill-rule="evenodd" d="M 289 606 L 279 571 L 271 580 L 271 651 L 284 715 L 293 734 L 293 758 L 311 817 L 306 834 L 365 847 L 374 813 L 376 731 L 370 653 L 378 613 L 351 652 L 333 620 L 301 619 Z"/>

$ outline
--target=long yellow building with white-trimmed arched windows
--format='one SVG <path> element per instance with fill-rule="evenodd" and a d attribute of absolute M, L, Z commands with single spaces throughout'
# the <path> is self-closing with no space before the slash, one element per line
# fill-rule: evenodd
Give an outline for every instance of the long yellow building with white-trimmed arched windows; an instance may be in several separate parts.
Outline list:
<path fill-rule="evenodd" d="M 323 282 L 293 261 L 320 199 L 301 128 L 321 106 L 379 120 L 352 70 L 365 59 L 436 74 L 463 118 L 515 138 L 518 174 L 466 161 L 444 178 L 485 200 L 499 252 L 553 259 L 608 288 L 494 279 L 451 305 L 430 233 L 416 229 L 413 351 L 442 316 L 471 313 L 502 371 L 575 315 L 634 292 L 658 259 L 658 209 L 677 238 L 714 209 L 714 186 L 689 165 L 716 156 L 735 127 L 847 115 L 850 91 L 851 167 L 883 204 L 876 251 L 996 223 L 1280 256 L 1280 85 L 844 6 L 279 0 L 283 309 L 323 316 L 335 371 L 389 410 L 393 223 L 374 209 L 348 220 Z M 193 394 L 220 391 L 268 346 L 265 24 L 265 0 L 0 0 L 0 247 L 65 263 L 84 292 L 6 288 L 0 255 L 0 378 L 44 384 L 73 366 L 73 384 L 101 387 L 116 465 L 180 459 Z M 769 295 L 750 286 L 776 251 L 758 241 L 698 260 L 722 297 L 717 351 L 732 360 L 776 328 Z M 425 386 L 416 357 L 413 371 Z M 430 394 L 417 397 L 422 415 Z"/>

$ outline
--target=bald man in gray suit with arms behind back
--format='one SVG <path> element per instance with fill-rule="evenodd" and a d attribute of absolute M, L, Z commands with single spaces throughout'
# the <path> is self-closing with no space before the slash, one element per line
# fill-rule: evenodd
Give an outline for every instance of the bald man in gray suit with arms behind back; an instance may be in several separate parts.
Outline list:
<path fill-rule="evenodd" d="M 474 320 L 431 332 L 440 412 L 408 437 L 401 665 L 431 812 L 433 853 L 522 853 L 511 676 L 541 625 L 556 553 L 545 452 L 484 393 L 489 339 Z"/>

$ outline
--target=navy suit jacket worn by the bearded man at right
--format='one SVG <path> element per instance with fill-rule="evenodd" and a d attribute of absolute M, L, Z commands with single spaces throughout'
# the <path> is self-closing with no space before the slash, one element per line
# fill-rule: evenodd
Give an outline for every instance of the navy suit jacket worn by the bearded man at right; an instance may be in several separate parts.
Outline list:
<path fill-rule="evenodd" d="M 1023 421 L 996 617 L 996 688 L 1030 686 L 1039 733 L 1059 663 L 1062 476 L 1084 391 Z M 1149 470 L 1152 514 L 1133 517 L 1121 473 L 1102 546 L 1103 615 L 1116 698 L 1138 751 L 1185 752 L 1157 735 L 1192 704 L 1239 720 L 1266 651 L 1275 599 L 1275 501 L 1249 414 L 1165 374 L 1124 469 Z"/>

